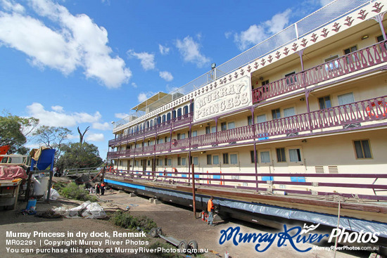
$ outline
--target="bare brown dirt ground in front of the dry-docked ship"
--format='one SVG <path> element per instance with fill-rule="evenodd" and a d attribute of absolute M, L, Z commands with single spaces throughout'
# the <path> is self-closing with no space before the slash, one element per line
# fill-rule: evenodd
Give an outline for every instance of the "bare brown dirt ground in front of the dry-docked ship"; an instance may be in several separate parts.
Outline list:
<path fill-rule="evenodd" d="M 220 236 L 222 230 L 227 228 L 240 226 L 243 233 L 275 233 L 270 228 L 246 224 L 242 221 L 222 221 L 215 219 L 216 226 L 208 226 L 204 221 L 199 218 L 194 218 L 194 214 L 191 210 L 184 207 L 177 207 L 175 205 L 160 203 L 150 203 L 148 199 L 142 197 L 129 197 L 129 194 L 119 191 L 107 191 L 106 195 L 101 196 L 99 204 L 106 211 L 115 211 L 116 209 L 127 209 L 129 207 L 130 214 L 134 216 L 146 215 L 151 217 L 156 224 L 163 229 L 163 233 L 167 236 L 172 236 L 178 240 L 196 240 L 198 242 L 199 249 L 207 249 L 208 252 L 201 254 L 201 257 L 225 257 L 225 252 L 228 252 L 229 257 L 314 257 L 314 258 L 331 258 L 334 257 L 334 251 L 328 250 L 313 250 L 316 245 L 303 244 L 297 245 L 298 248 L 305 250 L 307 247 L 312 247 L 312 250 L 308 252 L 297 252 L 291 247 L 291 245 L 277 246 L 277 241 L 273 243 L 265 252 L 255 251 L 254 243 L 241 243 L 234 245 L 231 240 L 226 241 L 223 245 L 220 245 Z M 67 200 L 59 198 L 56 201 L 51 201 L 49 204 L 44 202 L 37 203 L 37 212 L 44 212 L 53 207 L 76 207 L 82 202 Z M 24 209 L 26 202 L 19 202 L 18 208 L 13 211 L 0 211 L 0 250 L 2 257 L 158 257 L 159 254 L 141 253 L 135 254 L 133 250 L 137 247 L 148 247 L 151 243 L 160 238 L 130 238 L 131 242 L 125 243 L 128 238 L 125 237 L 113 237 L 114 231 L 117 233 L 127 233 L 125 229 L 113 226 L 110 221 L 100 219 L 44 219 L 40 217 L 34 217 L 32 215 L 23 215 L 20 210 Z M 199 213 L 197 213 L 199 217 Z M 6 233 L 12 231 L 13 233 L 35 233 L 36 236 L 31 236 L 29 239 L 21 237 L 6 236 Z M 77 233 L 88 233 L 84 240 L 102 241 L 101 243 L 82 243 L 79 241 L 82 239 L 77 237 Z M 104 233 L 108 234 L 103 237 L 90 236 L 91 233 Z M 40 233 L 40 235 L 39 235 Z M 43 233 L 63 233 L 64 236 L 48 237 L 42 236 Z M 73 233 L 73 237 L 69 237 L 69 234 Z M 60 235 L 60 234 L 59 234 Z M 11 245 L 9 240 L 32 240 L 33 243 L 24 243 L 26 245 Z M 8 245 L 6 243 L 8 240 Z M 48 241 L 69 241 L 77 240 L 74 245 L 71 243 L 52 243 Z M 113 240 L 113 243 L 106 243 L 106 240 Z M 42 242 L 41 242 L 42 241 Z M 122 244 L 118 244 L 118 241 L 122 241 Z M 146 243 L 148 241 L 148 243 Z M 160 240 L 165 243 L 165 240 Z M 58 244 L 58 246 L 53 246 Z M 66 246 L 69 245 L 69 246 Z M 262 246 L 267 244 L 262 243 Z M 330 246 L 325 244 L 324 246 Z M 122 247 L 126 248 L 127 252 L 110 253 L 110 248 Z M 7 249 L 8 248 L 8 249 Z M 129 249 L 132 249 L 130 252 Z M 27 250 L 32 250 L 32 253 L 25 254 Z M 37 254 L 39 252 L 46 252 L 43 254 Z M 67 252 L 66 252 L 67 250 Z M 82 253 L 80 252 L 82 250 Z M 13 251 L 13 252 L 12 252 Z M 16 252 L 18 251 L 18 252 Z M 85 252 L 89 252 L 85 254 Z M 91 252 L 91 253 L 90 253 Z M 139 251 L 140 252 L 140 251 Z M 172 251 L 171 251 L 172 252 Z M 369 257 L 370 252 L 337 252 L 336 257 Z M 187 255 L 186 257 L 194 257 L 194 255 Z"/>

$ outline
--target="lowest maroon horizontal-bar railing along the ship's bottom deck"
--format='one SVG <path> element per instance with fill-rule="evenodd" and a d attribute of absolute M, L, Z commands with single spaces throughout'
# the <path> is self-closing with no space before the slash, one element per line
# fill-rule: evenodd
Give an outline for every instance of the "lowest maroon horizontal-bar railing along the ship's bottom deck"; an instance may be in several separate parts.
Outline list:
<path fill-rule="evenodd" d="M 192 181 L 192 174 L 188 172 L 143 172 L 113 170 L 108 175 L 120 176 L 122 179 L 144 179 L 146 181 L 170 181 L 170 183 L 185 184 Z M 239 179 L 243 177 L 243 179 Z M 265 177 L 272 181 L 263 180 Z M 261 178 L 262 180 L 257 180 Z M 280 178 L 281 181 L 276 179 Z M 303 179 L 292 181 L 292 179 Z M 345 182 L 338 183 L 340 179 Z M 360 180 L 361 179 L 361 180 Z M 195 173 L 196 186 L 214 186 L 220 188 L 238 188 L 252 191 L 274 192 L 281 191 L 284 194 L 305 194 L 305 195 L 338 195 L 344 198 L 360 198 L 367 200 L 387 200 L 387 185 L 376 184 L 378 179 L 387 179 L 387 174 L 255 174 L 255 173 Z M 373 181 L 373 183 L 359 183 L 359 181 Z M 324 181 L 324 182 L 321 182 Z M 236 186 L 245 183 L 247 186 Z M 267 187 L 260 185 L 265 184 Z M 286 188 L 279 188 L 279 185 Z M 260 187 L 259 187 L 260 186 Z M 309 191 L 290 189 L 291 186 L 307 186 Z M 321 189 L 324 187 L 324 190 Z M 338 188 L 341 188 L 338 191 Z M 321 190 L 319 190 L 321 189 Z M 372 190 L 372 194 L 359 194 L 362 189 Z M 382 192 L 381 195 L 377 195 Z"/>

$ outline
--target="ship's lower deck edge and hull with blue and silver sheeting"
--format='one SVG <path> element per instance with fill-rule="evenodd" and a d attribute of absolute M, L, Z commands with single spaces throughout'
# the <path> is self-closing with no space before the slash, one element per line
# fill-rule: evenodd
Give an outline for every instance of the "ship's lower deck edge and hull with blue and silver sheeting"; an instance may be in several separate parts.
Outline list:
<path fill-rule="evenodd" d="M 193 205 L 193 187 L 187 182 L 157 179 L 151 181 L 111 173 L 106 174 L 105 181 L 109 186 L 138 195 L 187 207 Z M 205 185 L 195 186 L 195 193 L 197 209 L 205 209 L 212 195 L 220 214 L 265 226 L 280 227 L 284 221 L 306 221 L 336 227 L 340 212 L 341 228 L 358 232 L 367 228 L 367 231 L 387 237 L 387 202 L 344 198 L 340 195 L 280 195 L 266 191 Z"/>

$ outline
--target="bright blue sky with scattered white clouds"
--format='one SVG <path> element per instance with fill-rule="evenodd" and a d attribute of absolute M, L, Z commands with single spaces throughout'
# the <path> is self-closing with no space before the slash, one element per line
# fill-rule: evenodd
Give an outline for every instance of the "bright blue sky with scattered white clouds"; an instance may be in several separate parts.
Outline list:
<path fill-rule="evenodd" d="M 110 122 L 328 3 L 0 0 L 0 111 L 67 127 L 70 141 L 90 126 L 105 159 Z"/>

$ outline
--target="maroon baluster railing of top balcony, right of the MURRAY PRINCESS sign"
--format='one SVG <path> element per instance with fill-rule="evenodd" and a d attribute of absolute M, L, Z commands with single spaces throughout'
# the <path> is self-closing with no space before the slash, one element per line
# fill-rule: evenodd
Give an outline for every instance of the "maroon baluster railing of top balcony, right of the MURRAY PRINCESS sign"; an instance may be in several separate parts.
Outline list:
<path fill-rule="evenodd" d="M 303 72 L 253 89 L 253 103 L 265 101 L 284 93 L 305 89 L 307 86 L 348 75 L 387 62 L 386 42 L 381 41 L 364 49 L 348 53 Z"/>

